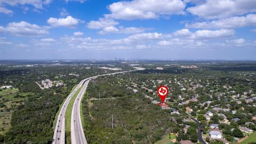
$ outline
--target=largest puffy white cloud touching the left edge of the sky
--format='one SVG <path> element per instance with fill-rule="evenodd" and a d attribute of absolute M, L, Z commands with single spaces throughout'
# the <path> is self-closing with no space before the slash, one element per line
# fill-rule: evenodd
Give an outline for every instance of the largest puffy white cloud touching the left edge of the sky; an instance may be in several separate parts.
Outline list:
<path fill-rule="evenodd" d="M 30 24 L 26 21 L 10 22 L 6 27 L 0 26 L 0 31 L 8 32 L 17 36 L 41 36 L 49 34 L 48 27 Z"/>

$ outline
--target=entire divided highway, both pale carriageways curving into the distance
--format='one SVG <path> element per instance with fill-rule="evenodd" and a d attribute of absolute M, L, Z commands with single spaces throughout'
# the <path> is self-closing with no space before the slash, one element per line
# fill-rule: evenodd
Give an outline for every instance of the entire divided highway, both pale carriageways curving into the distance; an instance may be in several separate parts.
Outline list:
<path fill-rule="evenodd" d="M 133 67 L 133 68 L 135 70 L 122 71 L 122 72 L 111 73 L 111 74 L 103 74 L 103 75 L 98 75 L 98 76 L 115 75 L 115 74 L 131 72 L 131 71 L 144 70 L 144 68 L 139 68 L 139 67 Z M 77 90 L 81 86 L 83 86 L 82 90 L 77 95 L 75 102 L 73 103 L 73 109 L 72 109 L 72 113 L 71 113 L 71 143 L 87 144 L 85 135 L 84 135 L 84 131 L 83 131 L 81 117 L 80 117 L 80 105 L 81 105 L 81 100 L 83 98 L 83 95 L 86 91 L 87 85 L 89 84 L 90 80 L 93 78 L 97 78 L 98 76 L 92 76 L 92 77 L 83 79 L 77 85 L 76 89 L 70 95 L 68 95 L 68 98 L 66 99 L 66 101 L 64 102 L 64 104 L 61 107 L 60 114 L 58 116 L 58 121 L 55 126 L 52 143 L 61 143 L 61 144 L 65 143 L 65 113 L 66 113 L 66 109 L 67 109 L 70 99 L 77 92 Z"/>

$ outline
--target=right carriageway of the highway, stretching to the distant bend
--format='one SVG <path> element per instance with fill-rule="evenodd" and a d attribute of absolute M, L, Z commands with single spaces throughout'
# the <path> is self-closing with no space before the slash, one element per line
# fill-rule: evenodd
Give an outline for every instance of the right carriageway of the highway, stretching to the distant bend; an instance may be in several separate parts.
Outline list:
<path fill-rule="evenodd" d="M 98 75 L 98 76 L 115 75 L 115 74 L 131 72 L 131 71 L 143 70 L 143 68 L 138 68 L 138 67 L 134 67 L 134 69 L 135 70 L 122 71 L 122 72 L 104 74 L 104 75 Z M 71 114 L 71 143 L 72 144 L 77 144 L 77 143 L 87 144 L 83 126 L 82 126 L 81 117 L 80 117 L 80 105 L 81 105 L 81 101 L 82 101 L 84 92 L 86 90 L 86 87 L 89 84 L 90 80 L 93 78 L 97 78 L 98 76 L 87 78 L 82 90 L 77 95 L 77 98 L 73 104 L 73 109 Z"/>

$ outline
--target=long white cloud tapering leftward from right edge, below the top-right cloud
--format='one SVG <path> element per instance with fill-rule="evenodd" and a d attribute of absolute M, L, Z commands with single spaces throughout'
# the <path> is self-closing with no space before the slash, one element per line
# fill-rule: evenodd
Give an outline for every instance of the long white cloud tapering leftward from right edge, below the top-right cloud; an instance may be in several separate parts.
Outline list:
<path fill-rule="evenodd" d="M 221 20 L 186 23 L 188 28 L 240 28 L 246 26 L 256 26 L 256 14 L 247 14 L 245 17 L 230 17 Z"/>

